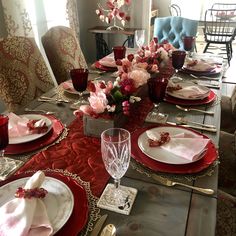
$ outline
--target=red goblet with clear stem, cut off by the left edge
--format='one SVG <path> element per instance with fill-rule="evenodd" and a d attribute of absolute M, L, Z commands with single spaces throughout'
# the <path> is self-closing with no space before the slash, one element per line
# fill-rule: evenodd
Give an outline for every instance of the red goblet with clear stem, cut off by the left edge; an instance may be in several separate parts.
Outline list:
<path fill-rule="evenodd" d="M 4 158 L 5 148 L 9 144 L 8 121 L 8 116 L 0 115 L 0 173 L 8 168 L 6 159 Z"/>

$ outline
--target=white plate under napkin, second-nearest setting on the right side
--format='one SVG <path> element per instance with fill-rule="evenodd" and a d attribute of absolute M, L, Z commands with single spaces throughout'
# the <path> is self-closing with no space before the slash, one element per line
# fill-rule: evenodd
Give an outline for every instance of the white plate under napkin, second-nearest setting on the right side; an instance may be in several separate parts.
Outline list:
<path fill-rule="evenodd" d="M 206 97 L 208 97 L 208 95 L 210 94 L 210 89 L 205 87 L 205 86 L 202 86 L 202 85 L 198 85 L 198 84 L 194 84 L 192 82 L 188 82 L 188 81 L 183 81 L 183 82 L 178 82 L 178 83 L 175 83 L 175 85 L 179 84 L 182 88 L 187 88 L 189 86 L 196 86 L 200 89 L 202 89 L 203 91 L 205 91 L 204 94 L 202 94 L 200 97 L 194 97 L 194 98 L 189 98 L 189 97 L 186 97 L 182 94 L 179 94 L 179 93 L 176 93 L 175 91 L 166 91 L 166 93 L 172 97 L 175 97 L 175 98 L 179 98 L 179 99 L 184 99 L 184 100 L 202 100 Z"/>

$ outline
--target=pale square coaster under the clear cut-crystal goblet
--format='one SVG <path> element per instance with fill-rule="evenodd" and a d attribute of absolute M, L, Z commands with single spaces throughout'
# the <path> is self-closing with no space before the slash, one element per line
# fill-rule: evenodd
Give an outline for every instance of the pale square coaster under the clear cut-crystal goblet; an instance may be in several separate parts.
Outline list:
<path fill-rule="evenodd" d="M 98 200 L 97 206 L 102 209 L 129 215 L 138 190 L 120 185 L 118 190 L 119 195 L 116 196 L 117 199 L 119 198 L 119 201 L 115 199 L 114 191 L 116 191 L 114 184 L 107 184 L 100 199 Z"/>

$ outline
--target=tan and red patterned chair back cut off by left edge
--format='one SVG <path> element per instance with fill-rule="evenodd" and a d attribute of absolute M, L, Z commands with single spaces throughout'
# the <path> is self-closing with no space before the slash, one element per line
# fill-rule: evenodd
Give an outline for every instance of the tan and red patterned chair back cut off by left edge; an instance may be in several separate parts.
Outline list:
<path fill-rule="evenodd" d="M 0 99 L 9 111 L 16 111 L 54 87 L 33 38 L 0 41 L 0 84 Z"/>

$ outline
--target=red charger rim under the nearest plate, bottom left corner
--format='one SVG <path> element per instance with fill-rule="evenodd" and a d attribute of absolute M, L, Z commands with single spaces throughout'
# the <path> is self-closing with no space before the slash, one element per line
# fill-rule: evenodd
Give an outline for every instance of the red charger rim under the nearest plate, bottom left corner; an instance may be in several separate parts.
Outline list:
<path fill-rule="evenodd" d="M 74 208 L 72 214 L 65 225 L 55 235 L 76 236 L 83 229 L 88 220 L 88 200 L 86 191 L 78 184 L 76 180 L 72 179 L 71 177 L 65 176 L 58 172 L 45 171 L 44 173 L 46 176 L 50 176 L 65 183 L 70 188 L 74 196 Z M 12 176 L 8 180 L 0 182 L 0 187 L 16 179 L 32 175 L 33 173 L 24 173 Z"/>

